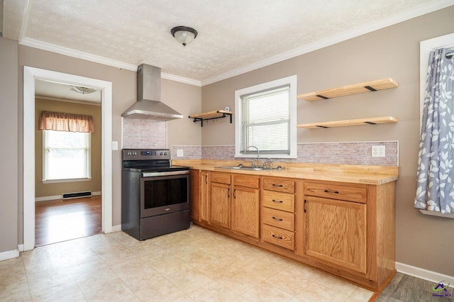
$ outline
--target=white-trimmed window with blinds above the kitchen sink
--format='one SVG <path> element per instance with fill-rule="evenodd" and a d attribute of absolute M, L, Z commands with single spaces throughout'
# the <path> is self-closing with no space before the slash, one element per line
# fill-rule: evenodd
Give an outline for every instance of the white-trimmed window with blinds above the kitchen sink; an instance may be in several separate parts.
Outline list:
<path fill-rule="evenodd" d="M 235 91 L 236 157 L 297 157 L 297 76 Z"/>

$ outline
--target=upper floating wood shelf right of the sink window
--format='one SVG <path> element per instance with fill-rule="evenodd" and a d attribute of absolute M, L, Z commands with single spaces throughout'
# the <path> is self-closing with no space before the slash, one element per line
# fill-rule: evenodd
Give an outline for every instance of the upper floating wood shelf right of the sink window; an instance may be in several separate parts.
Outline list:
<path fill-rule="evenodd" d="M 363 92 L 395 88 L 397 86 L 399 86 L 399 84 L 388 77 L 386 79 L 377 79 L 370 82 L 309 92 L 308 94 L 299 94 L 297 98 L 304 101 L 320 101 L 323 99 L 336 98 L 338 96 L 349 96 L 350 94 L 361 94 Z"/>

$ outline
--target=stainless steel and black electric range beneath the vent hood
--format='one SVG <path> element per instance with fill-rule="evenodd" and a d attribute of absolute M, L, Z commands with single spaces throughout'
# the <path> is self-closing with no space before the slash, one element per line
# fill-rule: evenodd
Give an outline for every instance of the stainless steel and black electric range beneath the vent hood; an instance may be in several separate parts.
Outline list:
<path fill-rule="evenodd" d="M 123 149 L 121 230 L 138 240 L 189 228 L 189 167 L 170 150 Z"/>

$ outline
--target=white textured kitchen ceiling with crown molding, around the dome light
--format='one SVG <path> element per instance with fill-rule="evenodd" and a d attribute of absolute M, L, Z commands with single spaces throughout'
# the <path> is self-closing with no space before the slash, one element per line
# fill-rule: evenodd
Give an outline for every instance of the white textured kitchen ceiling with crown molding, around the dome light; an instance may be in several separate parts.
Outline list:
<path fill-rule="evenodd" d="M 209 84 L 453 5 L 453 0 L 3 0 L 4 38 Z M 186 47 L 170 34 L 190 26 Z M 80 55 L 82 54 L 82 55 Z M 91 57 L 90 57 L 91 56 Z"/>

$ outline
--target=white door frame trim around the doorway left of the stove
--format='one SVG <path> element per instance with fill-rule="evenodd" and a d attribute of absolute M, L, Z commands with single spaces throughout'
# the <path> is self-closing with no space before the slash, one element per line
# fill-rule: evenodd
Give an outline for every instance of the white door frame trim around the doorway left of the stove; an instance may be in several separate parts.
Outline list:
<path fill-rule="evenodd" d="M 101 228 L 112 231 L 112 83 L 24 66 L 23 69 L 23 250 L 35 247 L 35 80 L 101 90 Z"/>

